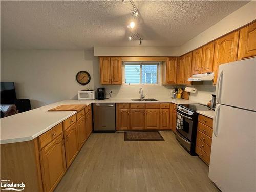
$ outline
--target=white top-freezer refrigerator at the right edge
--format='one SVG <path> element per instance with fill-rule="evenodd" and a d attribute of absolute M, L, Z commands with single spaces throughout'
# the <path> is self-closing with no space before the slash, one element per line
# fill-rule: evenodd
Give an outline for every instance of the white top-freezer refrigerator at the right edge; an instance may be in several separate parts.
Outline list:
<path fill-rule="evenodd" d="M 256 191 L 256 58 L 219 66 L 209 178 L 222 191 Z"/>

